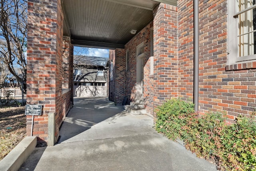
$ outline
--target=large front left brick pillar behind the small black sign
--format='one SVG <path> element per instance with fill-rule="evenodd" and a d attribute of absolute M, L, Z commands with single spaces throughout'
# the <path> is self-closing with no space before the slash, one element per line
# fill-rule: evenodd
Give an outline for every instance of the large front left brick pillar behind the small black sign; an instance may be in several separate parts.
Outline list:
<path fill-rule="evenodd" d="M 58 102 L 62 94 L 62 35 L 60 0 L 28 0 L 27 103 L 43 106 L 42 116 L 34 118 L 32 132 L 39 143 L 48 141 L 48 114 L 54 113 L 58 120 L 62 113 Z M 32 116 L 27 116 L 28 136 L 31 125 Z"/>

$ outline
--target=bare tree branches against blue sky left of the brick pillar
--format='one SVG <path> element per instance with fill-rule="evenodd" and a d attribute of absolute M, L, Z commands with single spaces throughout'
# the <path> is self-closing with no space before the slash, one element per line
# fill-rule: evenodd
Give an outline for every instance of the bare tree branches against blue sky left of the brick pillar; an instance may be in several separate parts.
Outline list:
<path fill-rule="evenodd" d="M 0 60 L 19 83 L 26 82 L 27 6 L 26 0 L 1 0 L 0 7 Z"/>

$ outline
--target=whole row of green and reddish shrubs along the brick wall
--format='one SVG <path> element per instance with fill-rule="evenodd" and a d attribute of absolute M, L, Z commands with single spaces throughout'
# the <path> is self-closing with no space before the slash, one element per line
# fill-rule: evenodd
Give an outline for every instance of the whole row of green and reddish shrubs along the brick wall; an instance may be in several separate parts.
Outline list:
<path fill-rule="evenodd" d="M 156 130 L 182 139 L 219 169 L 256 171 L 256 122 L 249 118 L 238 116 L 228 125 L 221 113 L 197 115 L 193 104 L 172 99 L 158 107 Z"/>

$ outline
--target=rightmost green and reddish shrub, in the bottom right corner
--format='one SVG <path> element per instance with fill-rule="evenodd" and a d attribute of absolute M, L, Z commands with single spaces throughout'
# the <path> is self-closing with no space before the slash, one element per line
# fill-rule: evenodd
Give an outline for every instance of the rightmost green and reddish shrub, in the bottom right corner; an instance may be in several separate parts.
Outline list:
<path fill-rule="evenodd" d="M 256 171 L 256 123 L 241 115 L 221 134 L 218 155 L 227 170 Z"/>

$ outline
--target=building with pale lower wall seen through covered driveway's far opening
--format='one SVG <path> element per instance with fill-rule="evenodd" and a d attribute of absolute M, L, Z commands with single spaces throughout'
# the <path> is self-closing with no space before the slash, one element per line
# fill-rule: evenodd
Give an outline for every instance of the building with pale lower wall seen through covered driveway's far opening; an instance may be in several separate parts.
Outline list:
<path fill-rule="evenodd" d="M 108 58 L 74 56 L 74 97 L 108 96 Z"/>

